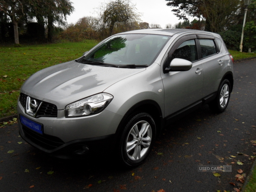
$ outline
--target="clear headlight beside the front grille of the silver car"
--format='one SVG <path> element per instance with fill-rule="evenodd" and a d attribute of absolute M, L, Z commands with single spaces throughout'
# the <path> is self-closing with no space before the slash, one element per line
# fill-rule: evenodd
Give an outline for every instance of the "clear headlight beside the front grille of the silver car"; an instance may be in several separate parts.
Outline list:
<path fill-rule="evenodd" d="M 85 99 L 81 99 L 66 107 L 66 117 L 93 115 L 105 109 L 113 99 L 108 93 L 99 93 Z"/>

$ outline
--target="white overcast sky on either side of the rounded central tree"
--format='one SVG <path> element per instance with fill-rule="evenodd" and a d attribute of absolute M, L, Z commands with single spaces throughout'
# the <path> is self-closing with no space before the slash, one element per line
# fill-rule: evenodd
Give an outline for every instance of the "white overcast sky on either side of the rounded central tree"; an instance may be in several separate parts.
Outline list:
<path fill-rule="evenodd" d="M 67 17 L 67 22 L 76 23 L 80 18 L 86 16 L 98 15 L 95 13 L 96 9 L 101 3 L 108 3 L 110 0 L 70 0 L 73 3 L 75 11 L 72 15 Z M 166 6 L 165 0 L 131 0 L 136 4 L 137 11 L 143 14 L 140 18 L 142 22 L 150 24 L 159 24 L 162 28 L 166 27 L 166 24 L 175 25 L 180 20 L 173 15 L 172 8 Z"/>

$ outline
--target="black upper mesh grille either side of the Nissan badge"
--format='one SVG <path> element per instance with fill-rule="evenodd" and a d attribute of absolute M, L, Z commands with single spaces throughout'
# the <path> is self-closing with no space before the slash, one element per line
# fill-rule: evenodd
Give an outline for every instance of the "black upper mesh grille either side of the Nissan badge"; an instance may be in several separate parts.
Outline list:
<path fill-rule="evenodd" d="M 26 95 L 23 93 L 20 93 L 20 103 L 23 106 L 23 108 L 26 111 Z M 37 99 L 38 102 L 42 102 Z M 35 118 L 38 118 L 40 116 L 47 116 L 47 117 L 57 117 L 58 109 L 57 106 L 48 102 L 43 102 L 41 107 L 38 109 L 38 112 L 36 113 Z"/>

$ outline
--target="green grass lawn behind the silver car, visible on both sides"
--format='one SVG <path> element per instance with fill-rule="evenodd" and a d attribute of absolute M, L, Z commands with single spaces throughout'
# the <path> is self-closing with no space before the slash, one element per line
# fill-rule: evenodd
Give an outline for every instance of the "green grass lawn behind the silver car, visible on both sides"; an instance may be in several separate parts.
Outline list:
<path fill-rule="evenodd" d="M 21 85 L 33 73 L 46 67 L 79 58 L 98 42 L 23 45 L 0 47 L 0 118 L 16 113 Z M 233 58 L 256 57 L 256 53 L 230 51 Z"/>

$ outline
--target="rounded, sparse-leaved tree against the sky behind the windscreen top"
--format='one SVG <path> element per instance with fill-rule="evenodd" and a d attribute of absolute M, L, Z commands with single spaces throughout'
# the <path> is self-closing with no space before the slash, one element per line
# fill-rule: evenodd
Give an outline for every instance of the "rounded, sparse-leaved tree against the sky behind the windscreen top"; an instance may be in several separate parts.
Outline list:
<path fill-rule="evenodd" d="M 140 20 L 140 13 L 136 12 L 131 0 L 114 0 L 104 3 L 100 11 L 99 20 L 102 21 L 103 29 L 108 30 L 108 35 L 113 34 L 113 29 L 117 25 L 123 26 L 125 30 Z"/>

